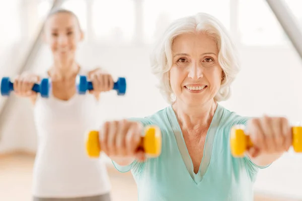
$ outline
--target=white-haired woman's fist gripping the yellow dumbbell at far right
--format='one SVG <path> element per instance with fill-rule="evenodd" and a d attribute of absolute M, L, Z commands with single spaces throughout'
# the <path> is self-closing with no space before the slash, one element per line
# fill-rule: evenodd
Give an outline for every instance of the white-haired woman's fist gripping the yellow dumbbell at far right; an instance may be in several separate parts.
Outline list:
<path fill-rule="evenodd" d="M 248 121 L 247 132 L 253 147 L 248 150 L 252 157 L 265 154 L 282 154 L 292 144 L 292 132 L 289 122 L 284 117 L 255 118 Z"/>

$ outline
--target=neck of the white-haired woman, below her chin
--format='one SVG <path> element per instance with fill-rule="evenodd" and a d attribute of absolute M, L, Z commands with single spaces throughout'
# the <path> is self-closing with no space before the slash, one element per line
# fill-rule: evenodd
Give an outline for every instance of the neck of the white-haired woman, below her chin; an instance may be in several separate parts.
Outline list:
<path fill-rule="evenodd" d="M 214 100 L 211 100 L 210 102 L 197 107 L 188 106 L 176 101 L 172 107 L 182 128 L 188 130 L 203 130 L 203 128 L 208 128 L 211 124 L 217 108 L 217 103 Z"/>

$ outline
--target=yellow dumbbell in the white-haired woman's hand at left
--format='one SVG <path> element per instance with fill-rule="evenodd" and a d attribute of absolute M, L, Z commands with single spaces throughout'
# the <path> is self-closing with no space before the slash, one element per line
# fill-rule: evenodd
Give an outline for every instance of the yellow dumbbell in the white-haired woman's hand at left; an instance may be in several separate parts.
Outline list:
<path fill-rule="evenodd" d="M 162 151 L 162 134 L 157 126 L 146 126 L 144 136 L 140 138 L 137 148 L 141 148 L 147 157 L 158 157 Z M 86 141 L 86 151 L 90 157 L 99 157 L 102 151 L 99 140 L 99 131 L 90 131 Z"/>

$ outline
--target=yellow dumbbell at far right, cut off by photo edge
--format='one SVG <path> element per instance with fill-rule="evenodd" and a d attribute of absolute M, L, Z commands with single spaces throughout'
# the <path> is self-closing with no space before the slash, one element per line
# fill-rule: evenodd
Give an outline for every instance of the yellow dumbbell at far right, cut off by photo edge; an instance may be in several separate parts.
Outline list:
<path fill-rule="evenodd" d="M 244 125 L 235 125 L 231 129 L 230 145 L 234 157 L 243 157 L 246 150 L 253 147 L 250 136 L 245 134 Z M 292 131 L 292 147 L 297 153 L 302 152 L 302 127 L 295 126 Z"/>

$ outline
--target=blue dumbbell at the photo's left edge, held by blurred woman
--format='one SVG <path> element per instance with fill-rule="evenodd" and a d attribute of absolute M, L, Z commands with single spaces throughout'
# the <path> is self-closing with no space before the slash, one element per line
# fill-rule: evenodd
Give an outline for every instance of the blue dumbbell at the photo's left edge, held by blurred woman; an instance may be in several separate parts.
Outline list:
<path fill-rule="evenodd" d="M 11 91 L 14 90 L 14 83 L 11 82 L 9 77 L 3 77 L 1 80 L 1 94 L 9 96 Z M 48 78 L 42 79 L 40 84 L 34 84 L 33 91 L 40 93 L 42 97 L 49 97 L 50 81 Z"/>

